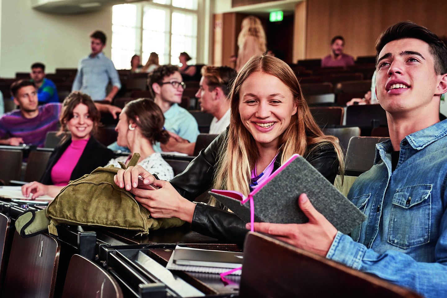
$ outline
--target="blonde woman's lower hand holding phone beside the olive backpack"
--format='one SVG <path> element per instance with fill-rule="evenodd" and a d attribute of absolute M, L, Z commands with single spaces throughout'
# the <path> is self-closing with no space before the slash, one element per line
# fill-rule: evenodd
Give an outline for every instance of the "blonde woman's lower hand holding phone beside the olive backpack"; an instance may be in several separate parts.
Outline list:
<path fill-rule="evenodd" d="M 136 201 L 149 210 L 153 218 L 177 217 L 192 222 L 195 209 L 193 202 L 182 197 L 168 181 L 155 180 L 152 184 L 158 189 L 133 188 L 131 193 L 135 195 Z"/>

